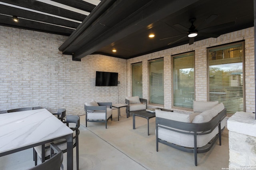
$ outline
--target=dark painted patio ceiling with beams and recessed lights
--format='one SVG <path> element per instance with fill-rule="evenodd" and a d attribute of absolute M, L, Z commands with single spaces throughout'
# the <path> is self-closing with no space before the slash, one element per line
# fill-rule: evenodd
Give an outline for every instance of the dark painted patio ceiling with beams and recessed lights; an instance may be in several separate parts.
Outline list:
<path fill-rule="evenodd" d="M 192 18 L 198 31 L 194 41 L 216 38 L 254 26 L 253 0 L 0 1 L 0 25 L 68 35 L 59 49 L 75 61 L 90 54 L 130 59 L 193 45 L 187 37 Z M 149 38 L 150 33 L 155 37 Z"/>

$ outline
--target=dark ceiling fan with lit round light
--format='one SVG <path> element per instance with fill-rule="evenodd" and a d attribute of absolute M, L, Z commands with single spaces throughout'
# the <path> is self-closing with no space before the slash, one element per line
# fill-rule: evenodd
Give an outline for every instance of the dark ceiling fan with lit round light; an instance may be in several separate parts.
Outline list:
<path fill-rule="evenodd" d="M 187 27 L 184 27 L 183 25 L 180 25 L 180 24 L 174 24 L 174 27 L 177 28 L 177 30 L 180 32 L 180 31 L 183 31 L 183 32 L 186 32 L 184 34 L 181 34 L 181 35 L 175 35 L 175 36 L 171 36 L 171 37 L 166 37 L 166 38 L 162 38 L 160 40 L 164 40 L 164 39 L 169 39 L 169 38 L 175 38 L 175 37 L 180 37 L 179 39 L 175 40 L 175 41 L 172 41 L 170 43 L 168 43 L 168 45 L 171 45 L 171 44 L 174 44 L 182 39 L 185 39 L 186 37 L 189 38 L 189 45 L 193 44 L 194 43 L 194 38 L 197 36 L 197 35 L 202 35 L 204 37 L 213 37 L 213 38 L 217 38 L 219 37 L 220 35 L 218 34 L 214 34 L 214 33 L 206 33 L 206 32 L 203 32 L 202 30 L 204 29 L 214 29 L 214 28 L 222 28 L 222 27 L 227 27 L 227 26 L 231 26 L 231 25 L 234 25 L 235 22 L 228 22 L 228 23 L 224 23 L 224 24 L 220 24 L 220 25 L 216 25 L 216 26 L 212 26 L 212 27 L 207 27 L 207 28 L 204 28 L 204 29 L 200 29 L 201 27 L 204 27 L 206 25 L 208 25 L 210 22 L 212 22 L 213 20 L 215 20 L 216 18 L 218 17 L 218 15 L 216 14 L 212 14 L 211 16 L 209 16 L 207 19 L 205 19 L 201 24 L 199 24 L 197 27 L 194 26 L 194 22 L 196 21 L 196 18 L 191 18 L 189 20 L 189 22 L 191 23 L 191 26 L 189 28 Z M 168 24 L 167 24 L 168 25 Z M 170 26 L 170 25 L 169 25 Z"/>

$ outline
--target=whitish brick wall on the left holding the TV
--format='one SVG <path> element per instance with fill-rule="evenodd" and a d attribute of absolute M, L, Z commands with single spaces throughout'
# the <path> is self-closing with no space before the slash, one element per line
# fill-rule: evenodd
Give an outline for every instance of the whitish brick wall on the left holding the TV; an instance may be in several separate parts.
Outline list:
<path fill-rule="evenodd" d="M 42 106 L 84 114 L 84 103 L 124 103 L 127 94 L 125 59 L 89 55 L 81 62 L 62 55 L 67 37 L 0 26 L 0 110 Z M 118 72 L 120 84 L 95 86 L 95 72 Z"/>

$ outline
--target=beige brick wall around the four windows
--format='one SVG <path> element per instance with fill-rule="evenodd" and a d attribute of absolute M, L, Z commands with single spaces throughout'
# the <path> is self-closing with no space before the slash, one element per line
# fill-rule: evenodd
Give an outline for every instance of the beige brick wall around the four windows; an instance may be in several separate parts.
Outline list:
<path fill-rule="evenodd" d="M 245 96 L 246 111 L 255 111 L 255 84 L 254 84 L 254 27 L 242 29 L 232 33 L 220 35 L 218 38 L 209 38 L 196 41 L 192 45 L 181 45 L 148 55 L 128 59 L 127 94 L 132 95 L 131 66 L 132 63 L 142 62 L 143 70 L 143 98 L 148 99 L 148 60 L 164 57 L 164 108 L 172 108 L 172 58 L 171 55 L 195 51 L 195 99 L 208 100 L 207 78 L 207 47 L 222 45 L 235 41 L 245 40 Z"/>

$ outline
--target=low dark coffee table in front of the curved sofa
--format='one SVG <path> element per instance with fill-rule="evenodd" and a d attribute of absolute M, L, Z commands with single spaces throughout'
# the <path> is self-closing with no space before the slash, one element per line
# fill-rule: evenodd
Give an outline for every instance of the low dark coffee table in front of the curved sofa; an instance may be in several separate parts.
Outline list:
<path fill-rule="evenodd" d="M 162 111 L 173 111 L 173 110 L 162 109 L 162 108 L 156 108 L 156 109 L 160 109 Z M 140 110 L 140 111 L 134 112 L 133 115 L 132 115 L 133 129 L 135 129 L 135 116 L 143 117 L 143 118 L 148 120 L 148 135 L 149 135 L 149 119 L 153 118 L 153 117 L 156 117 L 156 113 L 152 113 L 152 112 L 146 111 L 146 110 Z"/>

